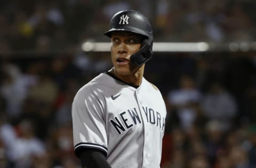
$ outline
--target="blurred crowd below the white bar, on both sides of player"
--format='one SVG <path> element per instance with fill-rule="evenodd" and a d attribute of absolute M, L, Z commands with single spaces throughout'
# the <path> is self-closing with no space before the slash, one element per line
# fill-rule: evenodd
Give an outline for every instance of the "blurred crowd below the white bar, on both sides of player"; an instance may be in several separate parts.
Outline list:
<path fill-rule="evenodd" d="M 147 62 L 168 112 L 163 168 L 256 166 L 254 54 L 155 53 Z M 80 167 L 71 104 L 111 68 L 109 53 L 6 58 L 0 67 L 0 167 Z"/>

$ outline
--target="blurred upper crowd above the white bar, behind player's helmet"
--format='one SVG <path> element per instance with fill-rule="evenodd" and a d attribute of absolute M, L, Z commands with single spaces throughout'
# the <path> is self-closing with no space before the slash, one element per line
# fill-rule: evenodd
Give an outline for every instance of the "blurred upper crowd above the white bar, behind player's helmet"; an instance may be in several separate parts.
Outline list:
<path fill-rule="evenodd" d="M 0 51 L 69 51 L 84 40 L 109 40 L 102 32 L 124 9 L 149 18 L 155 41 L 253 41 L 255 5 L 253 0 L 2 0 Z"/>

